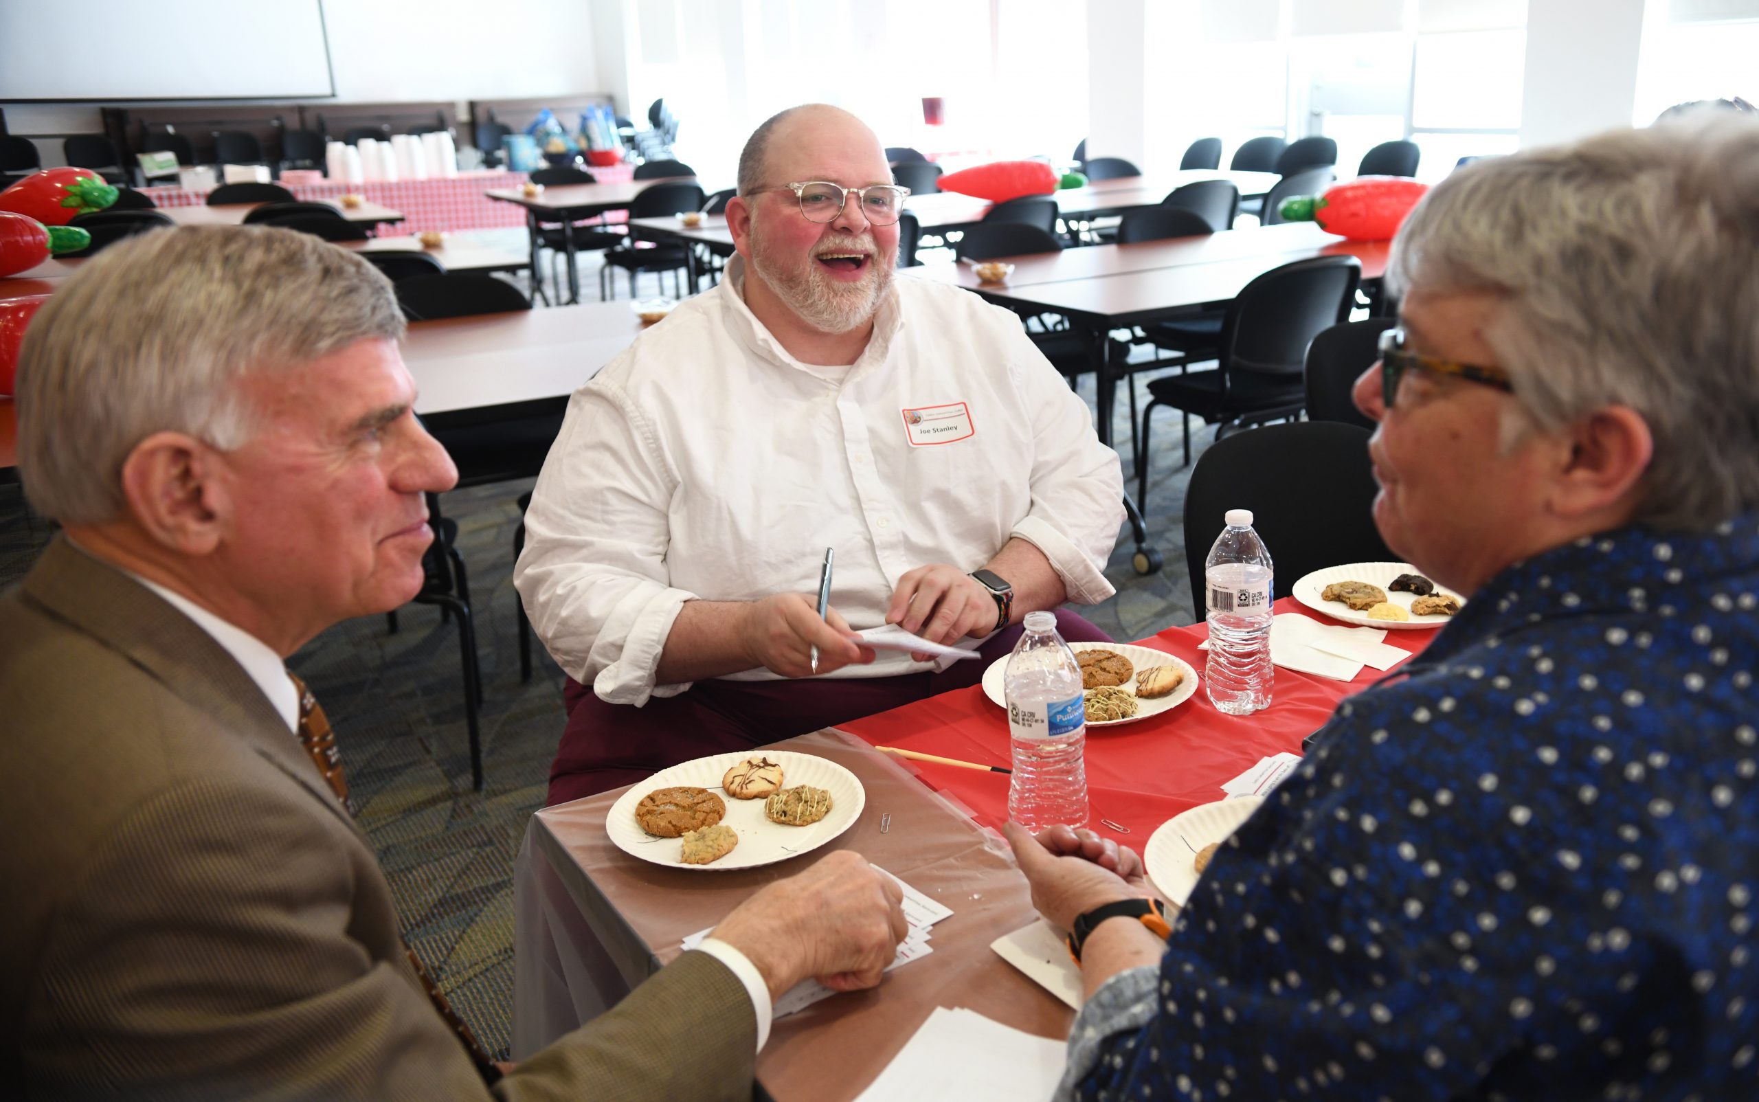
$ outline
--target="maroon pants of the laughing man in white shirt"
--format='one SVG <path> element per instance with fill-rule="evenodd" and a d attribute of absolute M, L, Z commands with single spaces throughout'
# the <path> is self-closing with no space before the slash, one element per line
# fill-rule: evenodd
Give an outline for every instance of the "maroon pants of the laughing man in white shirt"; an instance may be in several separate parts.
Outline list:
<path fill-rule="evenodd" d="M 978 649 L 982 659 L 953 663 L 945 673 L 776 682 L 711 678 L 677 696 L 654 696 L 639 708 L 605 703 L 568 678 L 563 687 L 568 728 L 551 766 L 549 805 L 623 787 L 691 758 L 749 750 L 974 685 L 990 663 L 1013 650 L 1020 631 L 1013 626 L 996 634 Z M 1071 643 L 1112 642 L 1066 608 L 1057 610 L 1057 631 Z"/>

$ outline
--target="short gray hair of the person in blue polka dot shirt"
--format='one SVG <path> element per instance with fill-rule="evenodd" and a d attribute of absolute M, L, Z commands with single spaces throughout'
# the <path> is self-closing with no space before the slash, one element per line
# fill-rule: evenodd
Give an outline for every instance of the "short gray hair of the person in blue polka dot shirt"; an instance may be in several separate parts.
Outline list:
<path fill-rule="evenodd" d="M 1534 427 L 1609 404 L 1655 438 L 1636 520 L 1759 506 L 1759 120 L 1715 112 L 1460 169 L 1405 220 L 1386 286 L 1488 292 Z"/>

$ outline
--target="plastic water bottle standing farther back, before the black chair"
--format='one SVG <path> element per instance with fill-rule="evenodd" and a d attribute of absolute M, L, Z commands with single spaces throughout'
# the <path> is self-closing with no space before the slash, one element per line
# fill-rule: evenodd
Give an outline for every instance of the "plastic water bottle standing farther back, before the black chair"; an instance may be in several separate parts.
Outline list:
<path fill-rule="evenodd" d="M 1252 510 L 1228 510 L 1228 527 L 1203 562 L 1210 633 L 1203 687 L 1228 715 L 1270 707 L 1270 552 L 1252 531 Z"/>

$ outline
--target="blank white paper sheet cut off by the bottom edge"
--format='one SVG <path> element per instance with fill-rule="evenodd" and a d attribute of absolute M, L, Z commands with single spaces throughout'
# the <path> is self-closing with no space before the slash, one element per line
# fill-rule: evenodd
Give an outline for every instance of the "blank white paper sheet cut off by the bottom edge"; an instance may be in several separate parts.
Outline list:
<path fill-rule="evenodd" d="M 1045 1102 L 1057 1091 L 1068 1048 L 966 1009 L 934 1007 L 855 1102 Z"/>

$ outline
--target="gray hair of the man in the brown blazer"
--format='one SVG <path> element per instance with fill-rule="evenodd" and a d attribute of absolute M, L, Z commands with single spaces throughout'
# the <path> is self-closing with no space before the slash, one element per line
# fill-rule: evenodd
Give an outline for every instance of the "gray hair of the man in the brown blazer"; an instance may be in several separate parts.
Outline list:
<path fill-rule="evenodd" d="M 390 281 L 348 250 L 271 227 L 153 230 L 88 260 L 32 318 L 18 466 L 46 517 L 121 515 L 121 468 L 153 432 L 232 450 L 255 432 L 237 380 L 403 336 Z"/>

